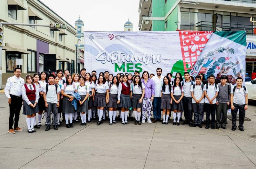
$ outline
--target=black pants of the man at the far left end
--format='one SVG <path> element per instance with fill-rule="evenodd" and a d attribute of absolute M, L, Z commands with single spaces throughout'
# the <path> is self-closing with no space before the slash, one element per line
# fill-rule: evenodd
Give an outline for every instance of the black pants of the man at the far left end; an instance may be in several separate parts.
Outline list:
<path fill-rule="evenodd" d="M 9 130 L 12 129 L 13 126 L 13 117 L 14 117 L 14 129 L 18 127 L 19 125 L 19 119 L 20 119 L 20 109 L 22 106 L 22 96 L 11 96 L 11 104 L 9 104 L 10 107 L 10 116 L 9 116 Z"/>

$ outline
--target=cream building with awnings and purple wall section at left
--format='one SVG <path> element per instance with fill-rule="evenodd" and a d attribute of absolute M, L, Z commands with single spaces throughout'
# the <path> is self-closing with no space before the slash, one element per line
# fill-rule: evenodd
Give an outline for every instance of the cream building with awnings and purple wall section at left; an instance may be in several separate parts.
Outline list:
<path fill-rule="evenodd" d="M 48 71 L 47 66 L 52 64 L 45 62 L 55 59 L 55 54 L 54 69 L 68 69 L 75 72 L 76 29 L 72 25 L 40 0 L 2 0 L 0 1 L 0 11 L 0 22 L 67 25 L 67 29 L 3 25 L 2 87 L 7 78 L 13 75 L 15 67 L 21 68 L 22 77 L 25 77 L 26 74 Z M 17 62 L 17 59 L 20 60 Z"/>

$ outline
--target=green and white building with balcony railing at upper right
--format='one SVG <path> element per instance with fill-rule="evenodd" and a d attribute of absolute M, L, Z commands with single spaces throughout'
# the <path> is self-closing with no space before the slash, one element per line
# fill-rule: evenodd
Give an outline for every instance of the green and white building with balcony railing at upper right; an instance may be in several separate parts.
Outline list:
<path fill-rule="evenodd" d="M 140 31 L 247 32 L 246 72 L 256 69 L 254 0 L 140 0 Z"/>

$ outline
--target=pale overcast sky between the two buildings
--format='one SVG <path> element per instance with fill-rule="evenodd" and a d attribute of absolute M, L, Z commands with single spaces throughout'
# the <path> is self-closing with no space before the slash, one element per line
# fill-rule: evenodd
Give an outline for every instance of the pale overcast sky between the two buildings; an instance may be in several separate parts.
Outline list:
<path fill-rule="evenodd" d="M 74 27 L 80 15 L 84 31 L 124 31 L 128 18 L 139 31 L 139 0 L 41 1 Z"/>

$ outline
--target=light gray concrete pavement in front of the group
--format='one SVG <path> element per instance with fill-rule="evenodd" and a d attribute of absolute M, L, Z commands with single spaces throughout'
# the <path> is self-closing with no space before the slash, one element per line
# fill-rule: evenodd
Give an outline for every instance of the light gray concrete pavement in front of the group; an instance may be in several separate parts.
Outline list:
<path fill-rule="evenodd" d="M 244 132 L 147 122 L 9 134 L 9 106 L 0 94 L 0 168 L 256 168 L 256 106 L 250 103 Z M 42 120 L 44 124 L 45 119 Z"/>

